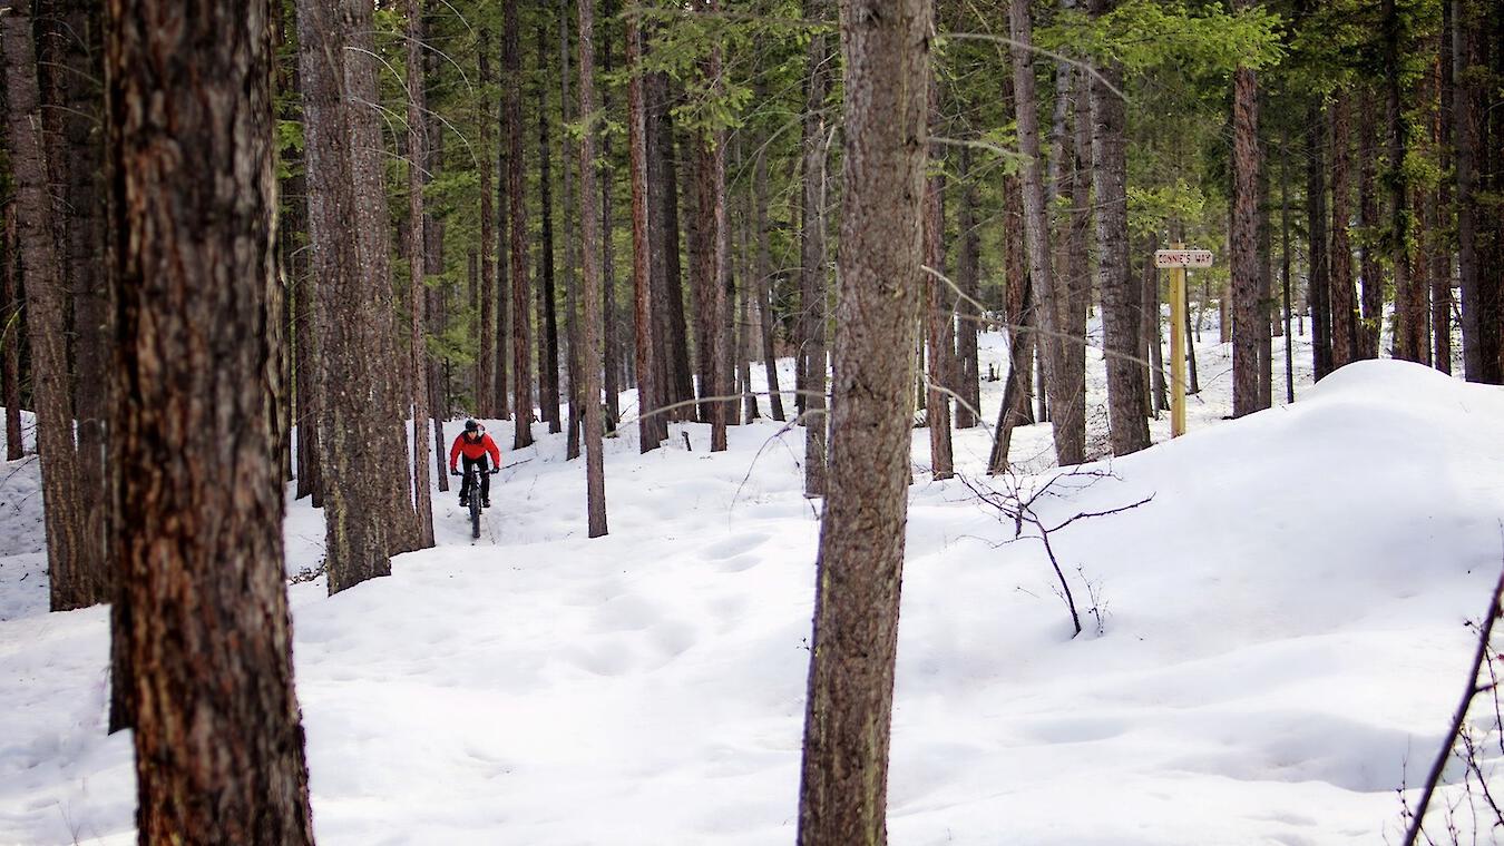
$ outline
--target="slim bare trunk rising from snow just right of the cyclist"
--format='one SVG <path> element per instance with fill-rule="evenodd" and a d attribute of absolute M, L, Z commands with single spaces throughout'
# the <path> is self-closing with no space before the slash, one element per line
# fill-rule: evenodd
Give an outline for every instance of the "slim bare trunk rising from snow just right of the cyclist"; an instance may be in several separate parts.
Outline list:
<path fill-rule="evenodd" d="M 596 0 L 578 0 L 579 11 L 579 114 L 585 131 L 579 140 L 579 228 L 581 275 L 585 325 L 576 334 L 581 388 L 575 403 L 585 406 L 585 506 L 590 536 L 606 533 L 606 472 L 600 419 L 600 266 L 596 263 L 600 233 L 596 230 Z"/>

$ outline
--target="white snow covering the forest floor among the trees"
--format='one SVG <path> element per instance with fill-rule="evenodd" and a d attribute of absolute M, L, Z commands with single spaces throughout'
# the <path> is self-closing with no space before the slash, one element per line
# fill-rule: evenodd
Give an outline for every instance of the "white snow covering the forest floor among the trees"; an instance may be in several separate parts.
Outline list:
<path fill-rule="evenodd" d="M 1393 838 L 1504 563 L 1504 392 L 1366 362 L 1314 388 L 1299 370 L 1296 404 L 1221 422 L 1214 341 L 1188 437 L 1157 421 L 1157 446 L 1039 506 L 1057 523 L 1152 496 L 1051 535 L 1101 633 L 1086 613 L 1069 637 L 1041 544 L 1005 544 L 963 479 L 928 481 L 916 430 L 895 844 Z M 1005 349 L 984 337 L 984 371 Z M 1090 373 L 1096 406 L 1098 356 Z M 984 386 L 988 422 L 1000 394 Z M 630 421 L 608 443 L 606 538 L 585 538 L 584 467 L 544 436 L 505 451 L 526 461 L 495 478 L 480 544 L 436 494 L 438 548 L 338 597 L 290 586 L 320 841 L 793 843 L 818 530 L 803 433 L 763 421 L 710 454 L 705 427 L 672 428 L 648 455 Z M 988 446 L 958 433 L 973 484 Z M 1021 475 L 993 484 L 1044 484 L 1047 454 L 1048 427 L 1020 431 Z M 35 475 L 0 470 L 0 843 L 128 843 L 107 612 L 47 613 Z M 289 571 L 316 565 L 319 514 L 290 503 L 286 533 Z"/>

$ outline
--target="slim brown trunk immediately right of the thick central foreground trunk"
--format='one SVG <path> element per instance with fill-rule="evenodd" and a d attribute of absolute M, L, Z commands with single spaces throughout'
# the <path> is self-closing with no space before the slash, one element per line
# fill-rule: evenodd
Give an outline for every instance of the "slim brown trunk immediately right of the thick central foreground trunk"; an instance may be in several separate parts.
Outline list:
<path fill-rule="evenodd" d="M 928 135 L 938 135 L 940 129 L 940 84 L 934 74 L 929 75 L 929 120 Z M 940 158 L 935 144 L 928 144 L 929 158 Z M 925 403 L 925 421 L 929 428 L 929 467 L 934 478 L 949 479 L 955 476 L 955 455 L 951 445 L 951 397 L 946 394 L 955 382 L 951 376 L 955 359 L 955 296 L 951 286 L 935 273 L 945 273 L 945 180 L 938 173 L 925 179 L 923 207 L 923 261 L 934 273 L 919 270 L 914 284 L 920 292 L 926 292 L 929 302 L 929 373 L 928 397 Z"/>

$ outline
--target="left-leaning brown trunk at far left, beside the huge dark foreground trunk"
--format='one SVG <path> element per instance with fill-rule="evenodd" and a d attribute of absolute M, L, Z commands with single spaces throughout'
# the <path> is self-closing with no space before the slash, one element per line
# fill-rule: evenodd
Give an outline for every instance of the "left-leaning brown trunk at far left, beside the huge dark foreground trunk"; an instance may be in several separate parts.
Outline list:
<path fill-rule="evenodd" d="M 68 305 L 63 301 L 63 266 L 53 236 L 48 144 L 41 132 L 41 93 L 29 12 L 29 3 L 5 0 L 0 6 L 0 36 L 6 62 L 8 153 L 17 194 L 17 246 L 26 286 L 27 338 L 32 343 L 36 451 L 42 461 L 42 500 L 47 505 L 47 576 L 51 609 L 63 612 L 99 601 L 105 579 L 87 567 L 68 383 Z"/>

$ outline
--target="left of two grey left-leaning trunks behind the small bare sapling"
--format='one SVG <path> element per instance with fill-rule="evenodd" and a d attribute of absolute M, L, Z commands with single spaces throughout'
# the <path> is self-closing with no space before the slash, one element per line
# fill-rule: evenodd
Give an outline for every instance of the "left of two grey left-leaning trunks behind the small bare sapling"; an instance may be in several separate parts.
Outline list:
<path fill-rule="evenodd" d="M 1045 221 L 1044 207 L 1044 177 L 1039 165 L 1039 114 L 1035 101 L 1033 77 L 1033 23 L 1029 18 L 1027 0 L 1011 0 L 1008 14 L 1009 32 L 1012 33 L 1014 59 L 1014 98 L 1018 119 L 1018 147 L 1026 161 L 1023 174 L 1023 206 L 1024 206 L 1024 248 L 1029 258 L 1029 283 L 1039 308 L 1035 313 L 1038 334 L 1035 340 L 1039 356 L 1044 392 L 1048 394 L 1054 430 L 1054 452 L 1062 466 L 1080 464 L 1086 457 L 1086 443 L 1077 437 L 1075 428 L 1062 419 L 1059 413 L 1062 404 L 1069 403 L 1068 397 L 1074 386 L 1060 380 L 1060 346 L 1062 338 L 1057 325 L 1057 311 L 1045 304 L 1057 302 L 1054 276 L 1050 269 L 1050 230 Z"/>

